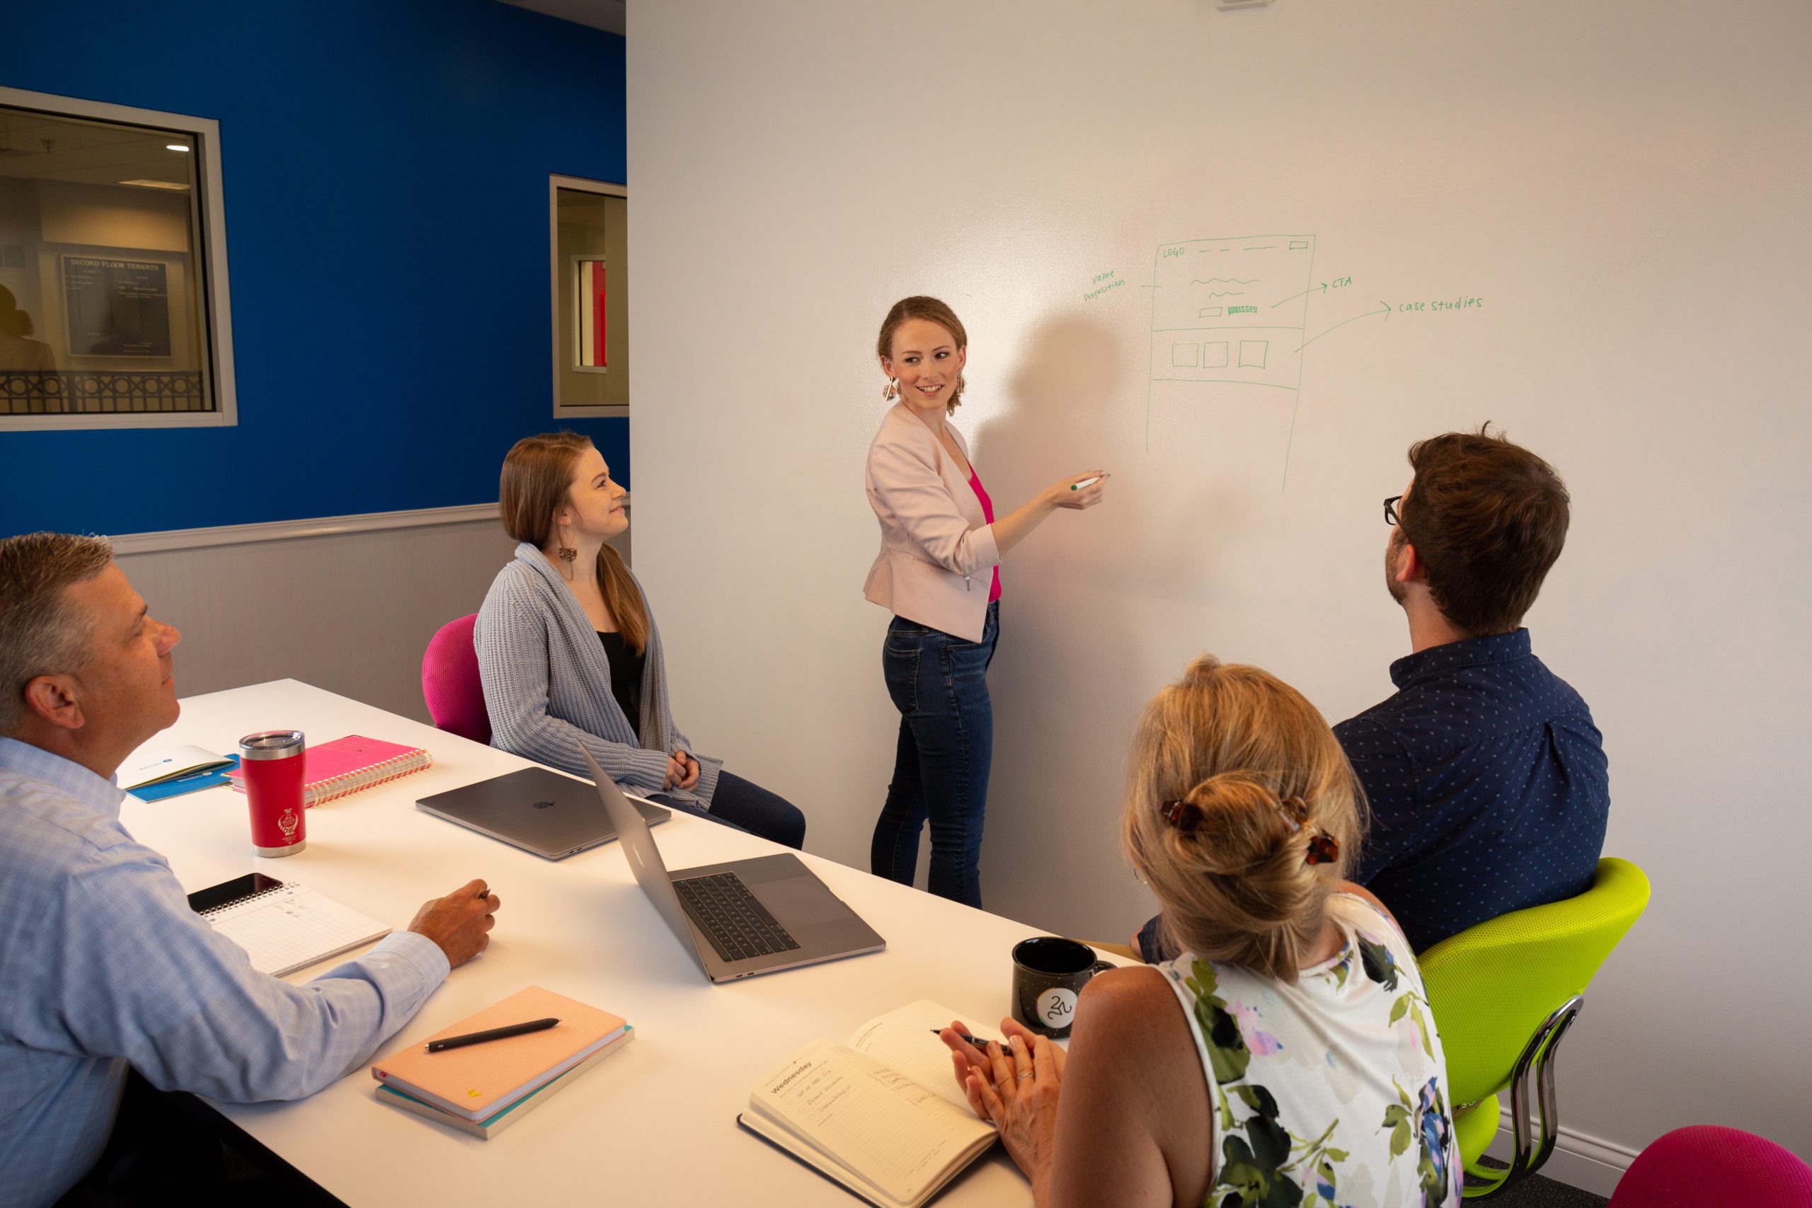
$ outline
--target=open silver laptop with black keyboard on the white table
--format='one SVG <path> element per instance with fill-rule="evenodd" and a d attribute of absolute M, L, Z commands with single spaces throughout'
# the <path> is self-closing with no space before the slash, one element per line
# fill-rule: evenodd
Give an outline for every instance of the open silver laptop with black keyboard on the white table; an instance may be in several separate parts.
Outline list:
<path fill-rule="evenodd" d="M 795 855 L 761 855 L 669 873 L 649 824 L 580 748 L 636 884 L 712 982 L 815 965 L 888 945 Z"/>

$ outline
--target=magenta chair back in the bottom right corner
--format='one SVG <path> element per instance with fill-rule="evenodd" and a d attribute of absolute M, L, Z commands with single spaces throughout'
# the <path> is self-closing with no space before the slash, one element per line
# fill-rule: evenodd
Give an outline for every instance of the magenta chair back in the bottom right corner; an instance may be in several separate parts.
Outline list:
<path fill-rule="evenodd" d="M 1812 1208 L 1812 1166 L 1740 1128 L 1674 1128 L 1642 1150 L 1611 1208 Z"/>

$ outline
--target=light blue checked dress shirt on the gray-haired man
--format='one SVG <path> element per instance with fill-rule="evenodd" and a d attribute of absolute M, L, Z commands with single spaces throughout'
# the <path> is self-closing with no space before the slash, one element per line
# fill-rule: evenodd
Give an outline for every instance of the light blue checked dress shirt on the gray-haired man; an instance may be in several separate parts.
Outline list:
<path fill-rule="evenodd" d="M 399 933 L 308 985 L 252 969 L 120 824 L 123 793 L 0 737 L 0 1201 L 100 1157 L 127 1063 L 163 1090 L 301 1099 L 364 1065 L 448 974 Z"/>

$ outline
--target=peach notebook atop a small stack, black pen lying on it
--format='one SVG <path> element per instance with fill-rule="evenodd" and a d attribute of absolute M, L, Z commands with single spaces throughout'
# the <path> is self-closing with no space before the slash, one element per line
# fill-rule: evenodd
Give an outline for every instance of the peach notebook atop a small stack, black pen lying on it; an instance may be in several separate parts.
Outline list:
<path fill-rule="evenodd" d="M 464 1049 L 428 1052 L 431 1040 L 554 1016 L 554 1027 Z M 486 1119 L 560 1078 L 623 1034 L 623 1016 L 531 985 L 433 1036 L 419 1036 L 371 1067 L 371 1078 L 466 1119 Z"/>

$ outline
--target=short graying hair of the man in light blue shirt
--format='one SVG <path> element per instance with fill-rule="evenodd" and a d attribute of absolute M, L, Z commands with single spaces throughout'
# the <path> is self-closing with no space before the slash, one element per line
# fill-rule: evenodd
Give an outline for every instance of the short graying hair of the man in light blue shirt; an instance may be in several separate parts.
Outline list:
<path fill-rule="evenodd" d="M 25 685 L 89 661 L 94 618 L 63 599 L 112 561 L 103 536 L 27 532 L 0 540 L 0 733 L 18 732 Z"/>

